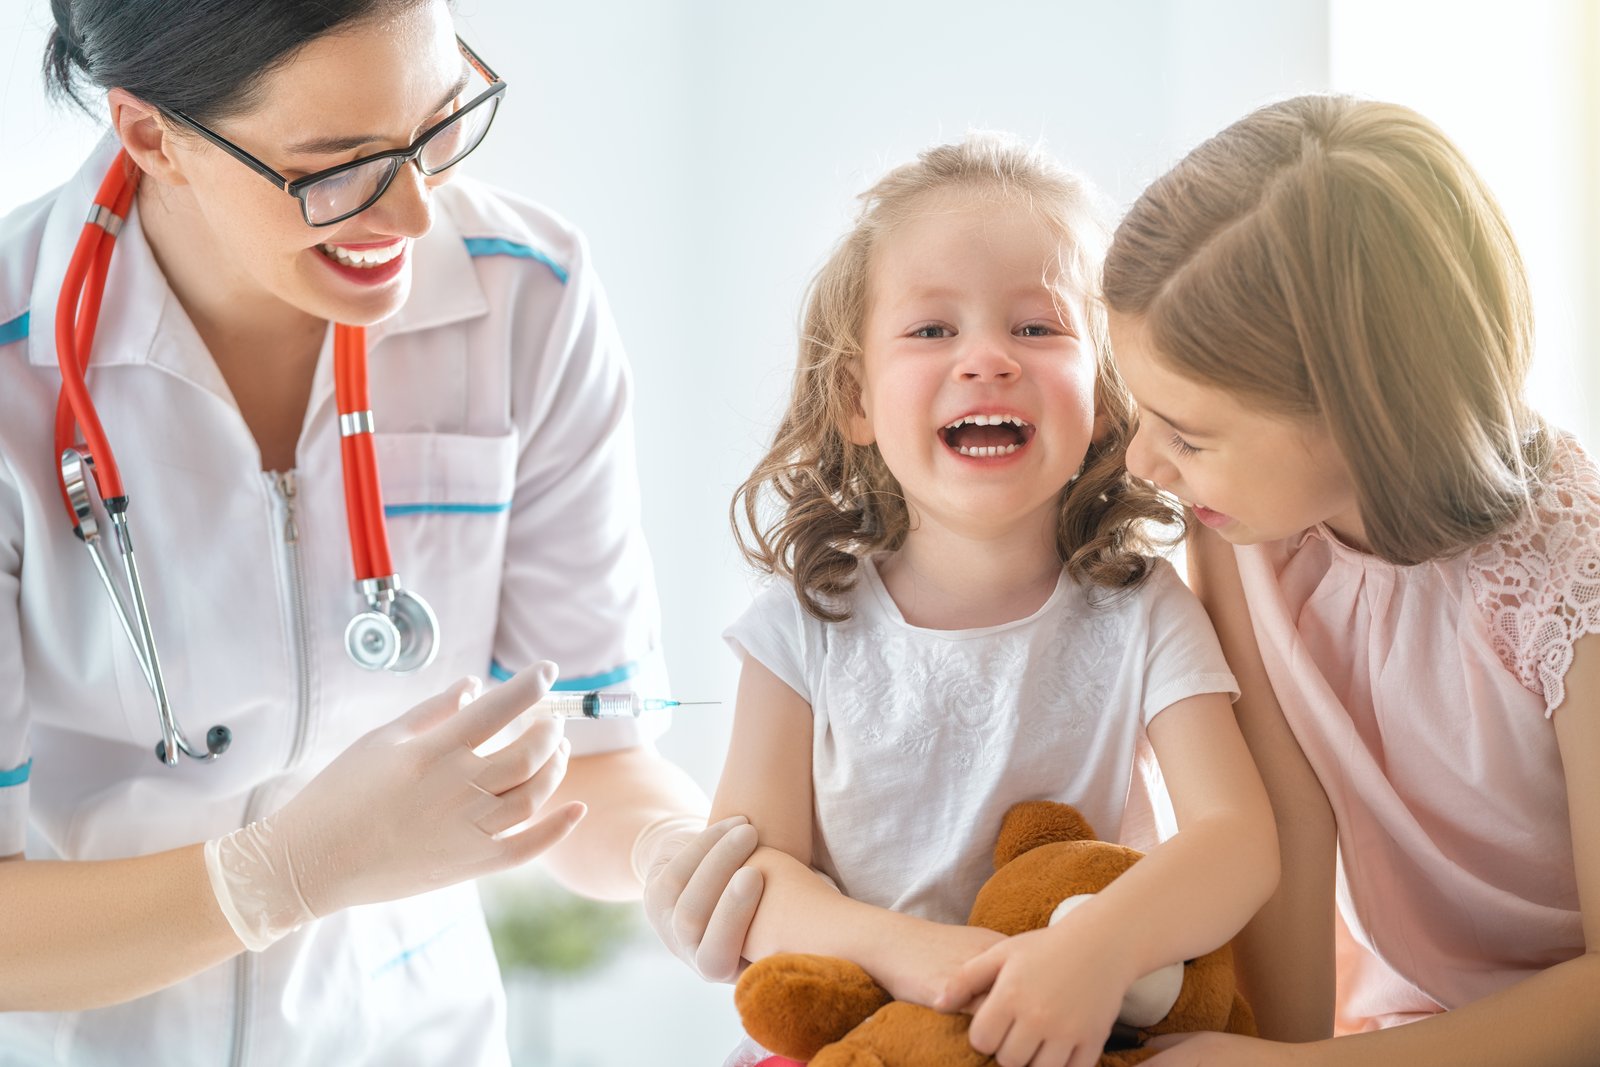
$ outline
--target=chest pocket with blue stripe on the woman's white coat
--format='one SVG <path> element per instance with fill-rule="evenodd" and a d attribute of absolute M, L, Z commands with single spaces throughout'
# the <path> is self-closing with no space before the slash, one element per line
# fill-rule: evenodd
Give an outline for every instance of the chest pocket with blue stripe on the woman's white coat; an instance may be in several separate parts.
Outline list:
<path fill-rule="evenodd" d="M 438 665 L 482 673 L 499 617 L 517 435 L 376 434 L 389 552 L 438 616 Z"/>

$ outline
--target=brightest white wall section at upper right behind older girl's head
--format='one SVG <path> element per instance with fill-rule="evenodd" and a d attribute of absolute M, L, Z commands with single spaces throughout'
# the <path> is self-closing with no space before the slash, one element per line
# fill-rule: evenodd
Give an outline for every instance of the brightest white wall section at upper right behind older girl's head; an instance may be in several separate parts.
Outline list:
<path fill-rule="evenodd" d="M 1510 219 L 1538 331 L 1539 408 L 1600 442 L 1600 5 L 1334 0 L 1331 88 L 1408 104 Z"/>

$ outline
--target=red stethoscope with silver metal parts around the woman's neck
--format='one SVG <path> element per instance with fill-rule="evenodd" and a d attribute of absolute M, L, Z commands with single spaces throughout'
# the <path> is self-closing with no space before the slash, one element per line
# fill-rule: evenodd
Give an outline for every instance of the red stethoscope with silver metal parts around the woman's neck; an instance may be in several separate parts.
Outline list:
<path fill-rule="evenodd" d="M 85 371 L 94 346 L 106 274 L 112 246 L 139 186 L 139 168 L 118 152 L 78 237 L 67 277 L 56 306 L 56 358 L 61 363 L 61 397 L 56 402 L 56 456 L 61 459 L 61 499 L 72 517 L 72 533 L 90 552 L 133 645 L 144 680 L 155 697 L 162 721 L 162 741 L 155 755 L 173 766 L 182 752 L 195 760 L 214 760 L 227 750 L 232 731 L 213 726 L 205 747 L 192 744 L 173 715 L 162 678 L 162 661 L 155 651 L 150 613 L 139 584 L 139 566 L 133 553 L 128 528 L 128 493 L 122 485 L 117 456 L 106 440 L 99 414 L 90 400 Z M 366 392 L 366 330 L 334 325 L 333 330 L 334 395 L 339 410 L 339 459 L 344 467 L 344 506 L 350 526 L 350 555 L 355 565 L 355 589 L 365 608 L 344 630 L 344 646 L 357 665 L 368 670 L 411 672 L 434 662 L 438 651 L 438 617 L 427 601 L 400 585 L 389 558 L 389 531 L 384 528 L 384 501 L 378 485 L 378 456 L 373 448 L 373 411 Z M 74 429 L 83 435 L 77 443 Z M 128 595 L 117 587 L 99 544 L 94 498 L 99 498 L 117 539 L 117 553 L 128 585 Z"/>

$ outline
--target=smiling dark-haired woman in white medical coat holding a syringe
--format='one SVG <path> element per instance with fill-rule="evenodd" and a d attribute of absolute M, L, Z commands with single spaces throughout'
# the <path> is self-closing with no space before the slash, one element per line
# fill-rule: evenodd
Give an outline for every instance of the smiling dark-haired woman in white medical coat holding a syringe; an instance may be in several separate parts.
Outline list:
<path fill-rule="evenodd" d="M 445 184 L 502 90 L 445 0 L 53 8 L 46 75 L 110 134 L 0 221 L 0 1059 L 504 1062 L 469 880 L 541 853 L 578 891 L 643 889 L 730 976 L 754 832 L 702 830 L 658 717 L 485 745 L 552 683 L 664 678 L 622 350 L 571 227 Z M 117 166 L 139 184 L 96 219 L 88 394 L 171 707 L 230 733 L 174 766 L 53 446 L 56 309 Z M 334 408 L 333 323 L 366 328 L 366 426 Z M 437 617 L 406 673 L 346 648 L 363 430 L 394 569 Z M 504 685 L 467 704 L 466 675 Z"/>

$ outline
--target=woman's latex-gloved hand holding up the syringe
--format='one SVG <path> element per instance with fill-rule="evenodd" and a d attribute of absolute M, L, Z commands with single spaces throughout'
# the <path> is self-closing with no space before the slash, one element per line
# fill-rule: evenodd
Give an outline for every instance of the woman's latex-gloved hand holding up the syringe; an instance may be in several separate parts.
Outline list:
<path fill-rule="evenodd" d="M 541 662 L 485 696 L 466 678 L 339 753 L 280 811 L 206 841 L 206 872 L 246 949 L 350 907 L 523 864 L 584 816 L 539 813 L 566 776 L 562 720 L 538 718 L 498 752 L 478 745 L 542 697 Z M 477 699 L 474 699 L 477 697 Z"/>

